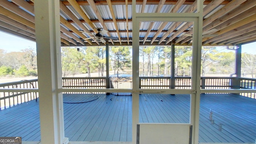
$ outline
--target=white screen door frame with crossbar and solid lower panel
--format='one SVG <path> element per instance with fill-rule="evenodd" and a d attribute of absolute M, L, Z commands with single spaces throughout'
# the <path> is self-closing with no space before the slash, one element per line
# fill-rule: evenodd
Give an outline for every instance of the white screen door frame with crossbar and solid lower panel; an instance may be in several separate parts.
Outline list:
<path fill-rule="evenodd" d="M 182 130 L 188 130 L 192 126 L 192 144 L 198 144 L 199 131 L 199 104 L 200 104 L 200 63 L 202 48 L 202 2 L 198 2 L 198 13 L 136 13 L 136 0 L 132 0 L 132 144 L 137 144 L 137 125 L 139 123 L 139 94 L 163 93 L 163 94 L 190 94 L 190 123 L 180 126 Z M 193 51 L 192 51 L 192 84 L 189 90 L 178 89 L 140 89 L 139 88 L 139 24 L 140 22 L 194 22 L 193 25 Z M 140 135 L 149 128 L 172 127 L 172 124 L 143 124 Z M 178 126 L 173 124 L 174 127 Z M 168 129 L 168 128 L 167 128 Z M 172 131 L 170 131 L 172 132 Z M 165 132 L 166 133 L 166 132 Z M 152 133 L 154 135 L 154 133 Z M 164 132 L 162 133 L 164 134 Z M 184 135 L 189 139 L 189 135 Z M 150 136 L 148 136 L 150 138 Z M 170 137 L 169 137 L 170 138 Z M 166 136 L 166 142 L 170 139 Z M 152 138 L 154 140 L 154 138 Z M 162 140 L 163 142 L 165 140 Z M 178 142 L 177 142 L 178 143 Z M 182 143 L 182 142 L 181 142 Z"/>

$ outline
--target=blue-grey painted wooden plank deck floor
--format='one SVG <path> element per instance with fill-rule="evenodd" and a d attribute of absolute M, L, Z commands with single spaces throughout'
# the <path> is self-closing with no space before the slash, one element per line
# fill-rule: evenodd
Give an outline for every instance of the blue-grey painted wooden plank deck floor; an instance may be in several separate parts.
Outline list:
<path fill-rule="evenodd" d="M 98 98 L 99 96 L 99 98 Z M 98 98 L 98 99 L 96 99 Z M 96 99 L 96 100 L 94 100 Z M 65 136 L 70 141 L 131 141 L 132 96 L 64 94 Z M 140 122 L 188 123 L 189 95 L 141 94 Z M 0 111 L 0 136 L 40 140 L 38 102 Z M 210 122 L 210 110 L 214 124 Z M 200 142 L 254 142 L 256 100 L 233 94 L 202 94 Z"/>

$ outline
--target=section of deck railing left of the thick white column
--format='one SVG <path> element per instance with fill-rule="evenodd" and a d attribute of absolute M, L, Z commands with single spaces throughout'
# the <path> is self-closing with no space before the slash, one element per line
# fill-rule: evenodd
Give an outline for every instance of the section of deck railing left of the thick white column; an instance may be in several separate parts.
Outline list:
<path fill-rule="evenodd" d="M 38 80 L 21 80 L 0 84 L 0 88 L 38 88 Z M 0 92 L 0 110 L 36 99 L 37 92 Z"/>

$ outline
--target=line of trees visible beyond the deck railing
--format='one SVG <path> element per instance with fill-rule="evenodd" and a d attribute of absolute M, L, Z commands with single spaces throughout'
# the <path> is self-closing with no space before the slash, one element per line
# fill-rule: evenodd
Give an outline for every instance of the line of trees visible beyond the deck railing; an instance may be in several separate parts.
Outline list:
<path fill-rule="evenodd" d="M 201 53 L 201 75 L 231 74 L 234 72 L 234 51 L 220 51 L 217 48 L 203 46 Z M 79 50 L 78 50 L 79 49 Z M 132 74 L 132 48 L 128 46 L 110 46 L 110 71 L 116 76 L 120 73 Z M 62 47 L 62 75 L 98 73 L 106 75 L 106 48 L 104 46 Z M 170 76 L 170 46 L 139 47 L 140 76 Z M 191 76 L 192 47 L 175 46 L 174 76 Z M 37 76 L 36 52 L 32 48 L 22 52 L 4 52 L 0 49 L 0 76 Z M 255 78 L 256 55 L 242 53 L 242 76 Z"/>

